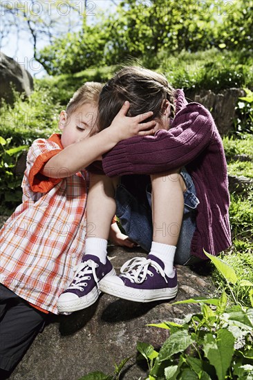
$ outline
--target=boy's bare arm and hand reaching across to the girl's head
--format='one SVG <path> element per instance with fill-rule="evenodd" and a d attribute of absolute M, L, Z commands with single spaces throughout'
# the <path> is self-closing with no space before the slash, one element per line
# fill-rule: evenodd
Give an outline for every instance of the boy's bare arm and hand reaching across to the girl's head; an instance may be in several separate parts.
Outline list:
<path fill-rule="evenodd" d="M 87 167 L 121 140 L 134 135 L 153 133 L 153 126 L 156 122 L 152 120 L 143 123 L 145 119 L 153 115 L 152 112 L 136 117 L 127 117 L 128 110 L 129 102 L 125 102 L 109 128 L 97 133 L 97 135 L 86 137 L 84 140 L 67 146 L 45 164 L 41 174 L 50 176 L 50 178 L 61 178 L 62 169 L 64 169 L 64 177 L 71 176 Z"/>

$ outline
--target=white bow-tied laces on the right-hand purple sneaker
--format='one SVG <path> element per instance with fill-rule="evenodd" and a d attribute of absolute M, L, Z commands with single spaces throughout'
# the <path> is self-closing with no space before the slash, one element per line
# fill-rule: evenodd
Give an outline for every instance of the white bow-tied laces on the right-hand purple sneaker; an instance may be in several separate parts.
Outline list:
<path fill-rule="evenodd" d="M 157 273 L 165 279 L 168 283 L 165 271 L 162 267 L 156 263 L 156 261 L 151 260 L 151 258 L 144 257 L 134 257 L 128 260 L 127 263 L 122 265 L 120 272 L 122 277 L 128 278 L 131 283 L 141 284 L 144 280 L 147 280 L 147 275 L 153 276 L 153 273 L 149 270 L 149 265 L 156 269 Z"/>

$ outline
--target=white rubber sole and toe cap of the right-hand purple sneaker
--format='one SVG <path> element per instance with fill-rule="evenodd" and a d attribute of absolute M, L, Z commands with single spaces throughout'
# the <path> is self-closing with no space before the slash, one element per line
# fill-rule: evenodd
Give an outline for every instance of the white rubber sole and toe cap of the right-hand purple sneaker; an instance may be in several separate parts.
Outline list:
<path fill-rule="evenodd" d="M 178 286 L 164 289 L 135 289 L 124 286 L 124 283 L 122 285 L 115 283 L 115 277 L 107 277 L 100 281 L 100 290 L 111 296 L 144 303 L 174 298 L 178 292 Z"/>

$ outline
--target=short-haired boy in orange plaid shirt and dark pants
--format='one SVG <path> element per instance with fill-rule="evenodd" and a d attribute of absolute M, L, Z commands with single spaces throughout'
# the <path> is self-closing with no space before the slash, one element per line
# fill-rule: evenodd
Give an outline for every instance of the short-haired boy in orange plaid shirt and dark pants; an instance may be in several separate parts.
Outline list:
<path fill-rule="evenodd" d="M 23 203 L 1 229 L 1 379 L 15 368 L 48 312 L 57 314 L 57 298 L 81 261 L 88 190 L 84 168 L 120 140 L 153 133 L 155 122 L 140 123 L 152 113 L 127 117 L 126 103 L 109 129 L 89 137 L 96 130 L 101 88 L 93 82 L 79 88 L 60 113 L 62 135 L 54 133 L 32 144 L 22 182 Z M 113 233 L 125 244 L 127 236 L 115 226 Z M 104 276 L 112 270 L 107 269 Z"/>

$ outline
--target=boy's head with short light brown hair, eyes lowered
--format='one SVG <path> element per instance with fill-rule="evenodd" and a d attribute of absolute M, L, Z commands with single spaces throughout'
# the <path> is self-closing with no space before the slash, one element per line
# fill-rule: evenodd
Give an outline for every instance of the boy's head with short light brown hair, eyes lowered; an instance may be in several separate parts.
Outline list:
<path fill-rule="evenodd" d="M 60 113 L 59 129 L 62 130 L 61 141 L 64 148 L 94 133 L 97 127 L 97 103 L 101 90 L 102 84 L 86 82 L 74 93 L 66 111 Z"/>

